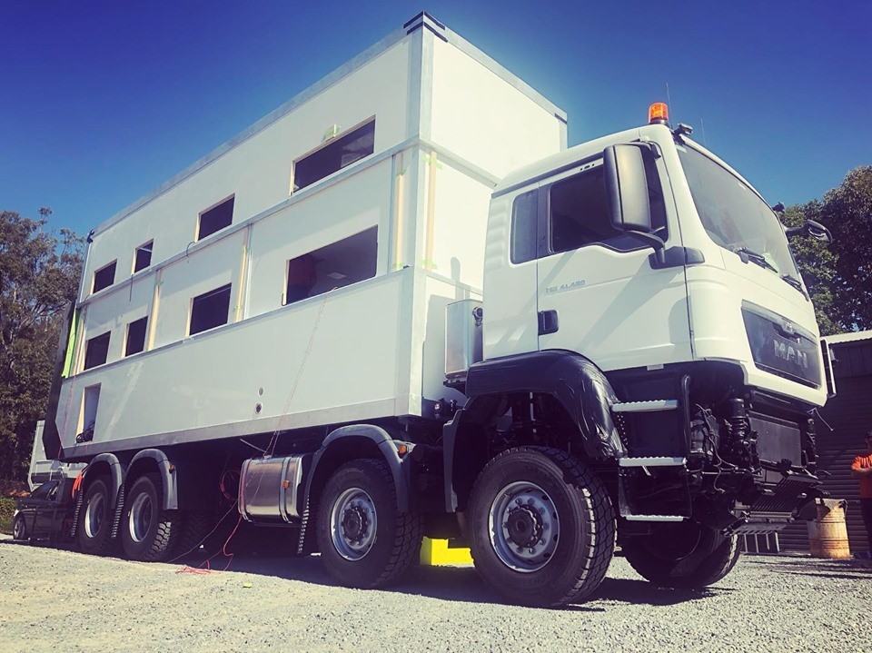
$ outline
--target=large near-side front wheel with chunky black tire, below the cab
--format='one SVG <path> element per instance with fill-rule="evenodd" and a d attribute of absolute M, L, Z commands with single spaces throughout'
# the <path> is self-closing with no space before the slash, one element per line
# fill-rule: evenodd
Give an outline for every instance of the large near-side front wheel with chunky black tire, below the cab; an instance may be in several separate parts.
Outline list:
<path fill-rule="evenodd" d="M 501 453 L 481 470 L 469 511 L 475 568 L 510 601 L 579 602 L 605 578 L 615 550 L 611 500 L 593 472 L 564 451 Z"/>

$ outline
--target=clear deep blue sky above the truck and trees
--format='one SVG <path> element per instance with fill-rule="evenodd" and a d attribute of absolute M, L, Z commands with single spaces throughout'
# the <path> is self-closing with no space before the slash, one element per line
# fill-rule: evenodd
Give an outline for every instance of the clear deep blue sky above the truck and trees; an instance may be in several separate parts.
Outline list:
<path fill-rule="evenodd" d="M 872 163 L 872 2 L 0 5 L 0 209 L 103 222 L 421 9 L 570 117 L 570 145 L 673 122 L 771 202 Z"/>

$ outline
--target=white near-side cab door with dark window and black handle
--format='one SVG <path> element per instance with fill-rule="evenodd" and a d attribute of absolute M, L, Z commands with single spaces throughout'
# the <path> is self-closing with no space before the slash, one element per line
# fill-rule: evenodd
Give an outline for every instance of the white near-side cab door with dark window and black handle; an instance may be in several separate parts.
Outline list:
<path fill-rule="evenodd" d="M 662 157 L 646 162 L 655 232 L 680 246 Z M 540 350 L 576 351 L 603 371 L 690 359 L 683 264 L 614 229 L 601 156 L 540 184 Z"/>

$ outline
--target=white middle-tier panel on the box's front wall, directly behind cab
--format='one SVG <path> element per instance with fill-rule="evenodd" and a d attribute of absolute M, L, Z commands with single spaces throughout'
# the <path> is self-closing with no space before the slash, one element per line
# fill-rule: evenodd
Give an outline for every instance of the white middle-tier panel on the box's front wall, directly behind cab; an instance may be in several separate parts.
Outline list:
<path fill-rule="evenodd" d="M 436 196 L 431 269 L 457 282 L 481 288 L 490 186 L 477 182 L 449 163 L 430 167 L 431 171 L 434 169 Z"/>

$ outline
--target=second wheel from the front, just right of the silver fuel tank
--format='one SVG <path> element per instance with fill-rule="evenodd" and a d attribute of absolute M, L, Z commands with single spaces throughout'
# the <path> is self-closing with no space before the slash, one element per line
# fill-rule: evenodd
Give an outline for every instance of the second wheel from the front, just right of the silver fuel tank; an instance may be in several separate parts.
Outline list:
<path fill-rule="evenodd" d="M 321 557 L 334 579 L 378 588 L 398 579 L 421 554 L 421 515 L 397 510 L 397 491 L 383 460 L 352 460 L 336 470 L 318 510 Z"/>

